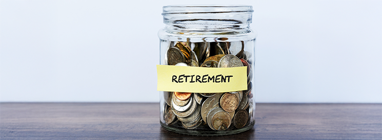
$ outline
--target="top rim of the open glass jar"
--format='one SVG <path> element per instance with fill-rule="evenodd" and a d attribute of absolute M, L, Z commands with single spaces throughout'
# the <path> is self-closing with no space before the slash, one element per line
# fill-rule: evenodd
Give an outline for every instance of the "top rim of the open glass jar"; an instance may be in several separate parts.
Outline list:
<path fill-rule="evenodd" d="M 162 15 L 169 14 L 208 14 L 208 13 L 252 13 L 252 6 L 246 5 L 171 5 L 164 6 Z"/>

